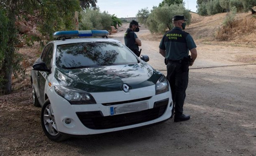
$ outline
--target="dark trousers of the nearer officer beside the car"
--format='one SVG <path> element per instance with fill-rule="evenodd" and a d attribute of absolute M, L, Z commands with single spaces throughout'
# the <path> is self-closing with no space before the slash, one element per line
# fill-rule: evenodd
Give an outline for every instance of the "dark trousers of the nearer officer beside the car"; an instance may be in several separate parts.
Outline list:
<path fill-rule="evenodd" d="M 175 110 L 175 115 L 182 115 L 186 89 L 188 87 L 188 70 L 184 72 L 183 65 L 180 62 L 168 63 L 167 79 L 172 93 L 172 113 Z"/>

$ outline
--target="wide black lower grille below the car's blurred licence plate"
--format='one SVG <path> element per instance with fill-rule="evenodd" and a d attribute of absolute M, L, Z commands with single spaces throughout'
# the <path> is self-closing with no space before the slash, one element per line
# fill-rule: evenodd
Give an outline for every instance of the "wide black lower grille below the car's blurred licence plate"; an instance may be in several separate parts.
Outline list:
<path fill-rule="evenodd" d="M 154 108 L 140 112 L 105 117 L 102 115 L 101 111 L 76 112 L 76 115 L 86 127 L 91 129 L 122 127 L 147 122 L 161 117 L 167 108 L 168 101 L 169 99 L 167 98 L 165 100 L 155 102 Z"/>

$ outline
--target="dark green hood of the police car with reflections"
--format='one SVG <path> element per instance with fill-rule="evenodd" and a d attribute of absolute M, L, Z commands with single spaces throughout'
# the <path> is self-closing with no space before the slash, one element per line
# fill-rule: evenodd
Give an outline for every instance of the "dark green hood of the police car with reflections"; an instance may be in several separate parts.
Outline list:
<path fill-rule="evenodd" d="M 145 62 L 82 69 L 56 68 L 55 78 L 60 85 L 87 92 L 120 91 L 126 84 L 130 89 L 155 85 L 162 73 Z"/>

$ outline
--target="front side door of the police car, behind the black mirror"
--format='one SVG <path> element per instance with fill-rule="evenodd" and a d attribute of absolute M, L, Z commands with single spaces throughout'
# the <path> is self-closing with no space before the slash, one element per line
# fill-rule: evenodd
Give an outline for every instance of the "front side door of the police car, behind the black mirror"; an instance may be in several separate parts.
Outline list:
<path fill-rule="evenodd" d="M 51 69 L 52 65 L 52 55 L 53 55 L 53 44 L 48 44 L 41 56 L 41 61 L 45 62 L 48 69 Z M 44 103 L 45 101 L 45 83 L 46 79 L 50 73 L 46 71 L 38 71 L 38 88 L 39 88 L 39 101 L 40 103 Z"/>

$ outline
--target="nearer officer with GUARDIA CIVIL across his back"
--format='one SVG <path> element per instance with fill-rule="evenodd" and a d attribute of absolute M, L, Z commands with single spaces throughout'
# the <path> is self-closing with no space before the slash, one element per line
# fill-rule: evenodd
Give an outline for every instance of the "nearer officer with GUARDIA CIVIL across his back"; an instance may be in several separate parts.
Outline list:
<path fill-rule="evenodd" d="M 175 110 L 174 122 L 190 119 L 189 115 L 183 114 L 183 104 L 188 86 L 188 66 L 193 65 L 197 51 L 191 35 L 183 31 L 186 20 L 183 15 L 173 16 L 174 27 L 164 34 L 159 45 L 159 53 L 165 57 L 167 65 L 167 79 L 170 83 L 173 100 L 172 114 Z"/>

